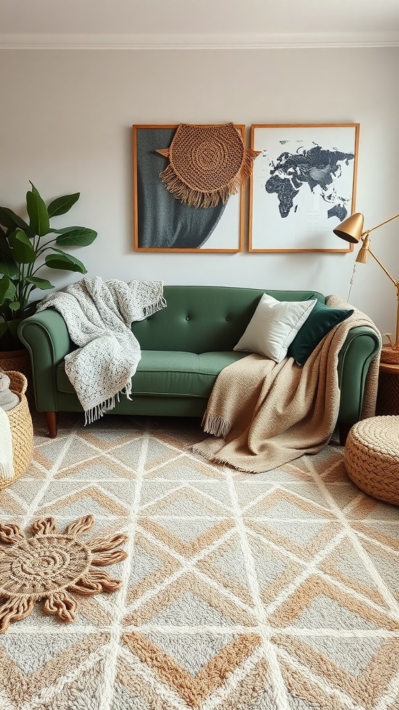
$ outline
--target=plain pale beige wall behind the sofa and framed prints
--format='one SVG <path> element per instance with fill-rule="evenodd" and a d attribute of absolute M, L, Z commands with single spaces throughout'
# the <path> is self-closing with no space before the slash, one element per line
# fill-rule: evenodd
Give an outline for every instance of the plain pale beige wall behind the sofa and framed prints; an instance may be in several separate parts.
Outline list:
<path fill-rule="evenodd" d="M 354 253 L 134 252 L 131 125 L 359 122 L 356 208 L 371 227 L 399 212 L 398 62 L 398 48 L 0 50 L 0 204 L 20 209 L 28 180 L 45 199 L 80 191 L 60 226 L 99 232 L 75 251 L 89 275 L 346 297 Z M 399 278 L 398 235 L 399 220 L 372 246 Z M 351 302 L 382 332 L 395 327 L 395 289 L 371 260 Z"/>

